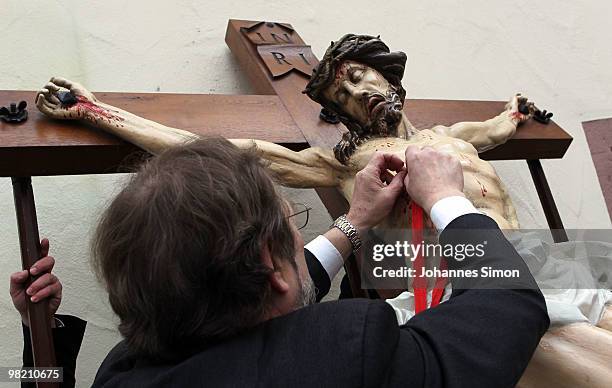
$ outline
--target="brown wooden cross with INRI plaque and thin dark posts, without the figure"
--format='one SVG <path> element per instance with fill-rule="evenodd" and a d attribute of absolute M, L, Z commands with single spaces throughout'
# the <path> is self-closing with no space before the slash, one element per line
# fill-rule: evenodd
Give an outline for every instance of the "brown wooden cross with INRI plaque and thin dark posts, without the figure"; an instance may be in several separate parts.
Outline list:
<path fill-rule="evenodd" d="M 301 93 L 318 60 L 289 24 L 230 20 L 227 45 L 238 58 L 257 95 L 195 95 L 166 93 L 95 93 L 111 105 L 168 126 L 202 135 L 254 138 L 293 150 L 333 147 L 344 130 L 319 119 L 320 106 Z M 126 158 L 142 152 L 82 123 L 54 121 L 34 108 L 34 91 L 0 91 L 0 105 L 26 100 L 29 119 L 21 124 L 0 122 L 0 176 L 13 177 L 15 207 L 24 269 L 40 258 L 36 210 L 30 177 L 40 175 L 107 174 L 127 171 Z M 405 111 L 417 128 L 459 121 L 484 121 L 503 110 L 500 101 L 407 100 Z M 533 120 L 521 126 L 504 145 L 481 154 L 485 160 L 527 160 L 555 239 L 563 224 L 539 159 L 561 158 L 572 138 L 558 125 Z M 348 204 L 336 189 L 316 189 L 330 215 L 346 212 Z M 346 270 L 355 296 L 365 296 L 354 260 Z M 28 303 L 34 362 L 54 365 L 53 342 L 46 306 Z M 40 386 L 53 386 L 52 384 Z"/>

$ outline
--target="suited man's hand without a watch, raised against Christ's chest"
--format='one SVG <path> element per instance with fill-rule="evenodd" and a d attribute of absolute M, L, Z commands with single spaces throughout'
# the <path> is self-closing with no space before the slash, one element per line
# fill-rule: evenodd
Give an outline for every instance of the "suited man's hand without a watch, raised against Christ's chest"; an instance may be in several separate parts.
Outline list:
<path fill-rule="evenodd" d="M 442 198 L 463 194 L 463 169 L 452 155 L 431 147 L 406 148 L 406 178 L 404 186 L 410 198 L 428 214 Z"/>

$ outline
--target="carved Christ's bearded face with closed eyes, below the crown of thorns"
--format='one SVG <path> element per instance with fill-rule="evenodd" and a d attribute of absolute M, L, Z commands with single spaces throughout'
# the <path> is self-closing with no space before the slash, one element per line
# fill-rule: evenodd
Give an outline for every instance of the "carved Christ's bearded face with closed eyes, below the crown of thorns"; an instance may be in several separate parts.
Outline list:
<path fill-rule="evenodd" d="M 373 135 L 394 135 L 401 121 L 402 103 L 395 87 L 378 71 L 358 62 L 339 64 L 323 96 Z"/>

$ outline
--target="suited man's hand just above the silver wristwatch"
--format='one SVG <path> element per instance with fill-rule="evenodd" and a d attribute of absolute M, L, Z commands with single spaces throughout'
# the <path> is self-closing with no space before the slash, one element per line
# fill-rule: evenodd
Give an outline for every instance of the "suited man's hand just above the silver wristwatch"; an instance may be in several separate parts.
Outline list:
<path fill-rule="evenodd" d="M 396 172 L 395 176 L 390 171 Z M 402 193 L 406 170 L 404 162 L 393 154 L 377 152 L 355 176 L 355 189 L 347 218 L 358 231 L 380 223 Z"/>

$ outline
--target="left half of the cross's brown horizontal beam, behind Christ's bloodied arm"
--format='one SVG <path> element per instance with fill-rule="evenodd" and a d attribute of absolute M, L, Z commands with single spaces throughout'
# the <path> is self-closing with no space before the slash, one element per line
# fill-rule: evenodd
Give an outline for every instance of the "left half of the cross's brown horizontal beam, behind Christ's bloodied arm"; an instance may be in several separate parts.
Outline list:
<path fill-rule="evenodd" d="M 277 96 L 96 92 L 101 101 L 203 136 L 253 138 L 299 151 L 308 147 Z M 40 113 L 33 91 L 0 91 L 0 105 L 27 101 L 28 120 L 0 121 L 0 176 L 115 173 L 142 151 L 83 123 Z"/>

